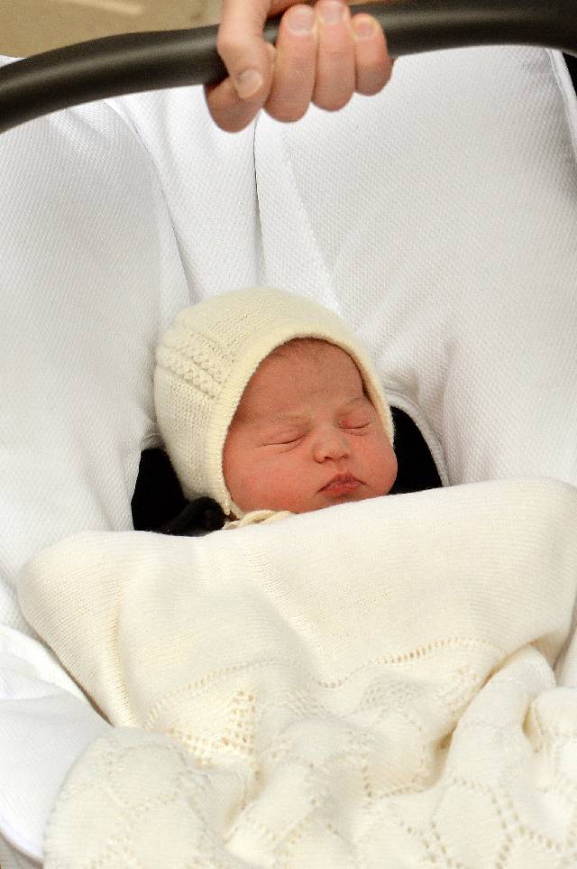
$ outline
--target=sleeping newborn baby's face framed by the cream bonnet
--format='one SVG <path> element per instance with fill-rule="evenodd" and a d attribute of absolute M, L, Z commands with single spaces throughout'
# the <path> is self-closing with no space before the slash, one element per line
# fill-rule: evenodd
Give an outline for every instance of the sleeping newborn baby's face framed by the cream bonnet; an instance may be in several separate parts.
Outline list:
<path fill-rule="evenodd" d="M 348 354 L 296 340 L 261 362 L 224 444 L 224 479 L 245 513 L 362 501 L 386 495 L 396 476 L 395 453 Z"/>

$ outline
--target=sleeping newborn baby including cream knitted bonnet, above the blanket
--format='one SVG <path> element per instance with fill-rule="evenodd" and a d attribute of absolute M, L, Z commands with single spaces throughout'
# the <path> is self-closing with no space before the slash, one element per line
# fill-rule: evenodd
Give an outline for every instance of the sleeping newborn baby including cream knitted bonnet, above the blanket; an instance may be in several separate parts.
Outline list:
<path fill-rule="evenodd" d="M 296 294 L 261 287 L 181 311 L 157 349 L 154 395 L 184 494 L 214 498 L 234 524 L 386 495 L 395 481 L 370 357 L 343 319 Z"/>

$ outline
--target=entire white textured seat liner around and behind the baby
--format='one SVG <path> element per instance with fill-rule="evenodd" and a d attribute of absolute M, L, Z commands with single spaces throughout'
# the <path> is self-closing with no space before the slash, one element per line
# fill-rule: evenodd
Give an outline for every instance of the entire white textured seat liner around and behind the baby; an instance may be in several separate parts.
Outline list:
<path fill-rule="evenodd" d="M 217 130 L 199 88 L 0 137 L 7 839 L 41 854 L 62 776 L 106 729 L 25 636 L 15 572 L 71 532 L 130 527 L 152 349 L 190 300 L 268 282 L 339 310 L 444 482 L 577 480 L 570 87 L 552 52 L 440 52 L 337 115 L 263 115 L 256 142 Z"/>

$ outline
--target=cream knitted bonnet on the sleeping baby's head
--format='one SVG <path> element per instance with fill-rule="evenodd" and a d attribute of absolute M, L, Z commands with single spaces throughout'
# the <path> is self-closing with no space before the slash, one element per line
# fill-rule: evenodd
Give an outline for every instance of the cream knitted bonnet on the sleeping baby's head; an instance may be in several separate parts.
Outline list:
<path fill-rule="evenodd" d="M 343 319 L 316 301 L 283 290 L 226 292 L 181 310 L 156 350 L 160 436 L 187 498 L 209 495 L 226 515 L 243 517 L 224 482 L 228 427 L 261 361 L 296 337 L 321 338 L 353 358 L 392 443 L 389 403 L 379 377 Z"/>

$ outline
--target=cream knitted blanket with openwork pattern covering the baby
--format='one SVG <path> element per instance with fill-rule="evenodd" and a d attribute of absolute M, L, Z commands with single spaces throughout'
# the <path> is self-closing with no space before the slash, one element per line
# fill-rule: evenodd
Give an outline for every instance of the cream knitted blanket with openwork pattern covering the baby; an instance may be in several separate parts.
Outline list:
<path fill-rule="evenodd" d="M 577 865 L 576 530 L 499 481 L 44 550 L 23 612 L 116 726 L 45 866 Z"/>

